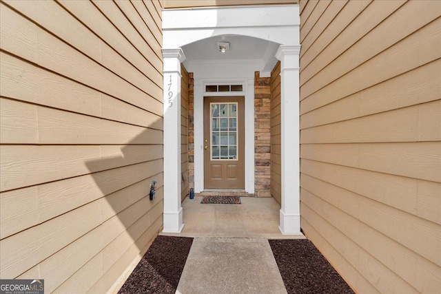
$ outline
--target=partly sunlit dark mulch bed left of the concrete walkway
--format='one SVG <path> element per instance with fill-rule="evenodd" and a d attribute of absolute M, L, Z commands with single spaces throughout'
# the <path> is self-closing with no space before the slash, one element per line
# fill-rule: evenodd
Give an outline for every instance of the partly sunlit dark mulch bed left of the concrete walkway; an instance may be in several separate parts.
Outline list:
<path fill-rule="evenodd" d="M 118 293 L 175 293 L 192 243 L 158 236 Z"/>

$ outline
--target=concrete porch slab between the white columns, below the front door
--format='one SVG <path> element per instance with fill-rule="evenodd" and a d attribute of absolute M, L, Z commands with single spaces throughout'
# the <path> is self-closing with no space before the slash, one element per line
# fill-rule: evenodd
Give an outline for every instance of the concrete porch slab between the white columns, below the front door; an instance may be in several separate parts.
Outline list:
<path fill-rule="evenodd" d="M 280 204 L 274 198 L 240 197 L 242 204 L 201 204 L 202 197 L 182 203 L 181 237 L 305 239 L 304 235 L 283 235 L 278 229 Z"/>

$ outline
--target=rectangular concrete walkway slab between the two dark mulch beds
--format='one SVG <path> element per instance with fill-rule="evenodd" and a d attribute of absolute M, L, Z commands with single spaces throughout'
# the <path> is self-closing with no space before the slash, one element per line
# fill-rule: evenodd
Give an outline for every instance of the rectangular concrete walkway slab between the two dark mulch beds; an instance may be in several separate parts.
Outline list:
<path fill-rule="evenodd" d="M 176 293 L 287 293 L 265 239 L 195 238 Z"/>

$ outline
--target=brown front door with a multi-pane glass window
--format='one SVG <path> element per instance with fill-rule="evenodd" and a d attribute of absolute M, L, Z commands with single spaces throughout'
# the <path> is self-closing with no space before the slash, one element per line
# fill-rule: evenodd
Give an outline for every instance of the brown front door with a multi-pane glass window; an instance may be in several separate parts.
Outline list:
<path fill-rule="evenodd" d="M 204 186 L 245 189 L 244 97 L 204 98 Z"/>

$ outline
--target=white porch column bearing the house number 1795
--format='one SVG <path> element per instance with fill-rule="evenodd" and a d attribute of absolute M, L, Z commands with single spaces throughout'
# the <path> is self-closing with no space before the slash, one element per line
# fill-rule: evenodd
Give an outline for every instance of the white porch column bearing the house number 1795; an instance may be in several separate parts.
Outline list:
<path fill-rule="evenodd" d="M 164 232 L 184 227 L 181 207 L 181 48 L 163 49 L 164 74 Z"/>

